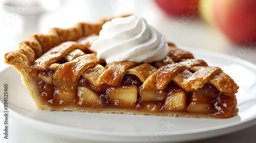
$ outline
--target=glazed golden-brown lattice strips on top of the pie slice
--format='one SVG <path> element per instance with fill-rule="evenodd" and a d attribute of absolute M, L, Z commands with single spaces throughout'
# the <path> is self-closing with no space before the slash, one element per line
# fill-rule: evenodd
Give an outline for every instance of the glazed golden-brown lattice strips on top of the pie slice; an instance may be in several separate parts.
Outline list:
<path fill-rule="evenodd" d="M 238 89 L 236 84 L 232 84 L 233 80 L 224 74 L 219 67 L 209 67 L 203 60 L 183 59 L 181 57 L 188 58 L 193 57 L 193 55 L 177 49 L 177 47 L 170 46 L 170 51 L 176 53 L 172 55 L 172 59 L 176 59 L 176 61 L 183 59 L 183 61 L 162 64 L 158 69 L 147 63 L 138 65 L 135 62 L 113 62 L 105 67 L 99 66 L 97 63 L 104 63 L 104 61 L 98 60 L 96 54 L 85 54 L 83 51 L 86 50 L 87 46 L 77 42 L 63 42 L 36 59 L 31 67 L 45 70 L 50 64 L 62 58 L 74 59 L 56 67 L 53 76 L 54 81 L 56 81 L 53 84 L 56 87 L 69 82 L 76 82 L 80 75 L 88 78 L 95 87 L 102 85 L 118 86 L 125 74 L 133 74 L 143 82 L 142 89 L 163 90 L 170 81 L 174 81 L 186 91 L 202 88 L 206 83 L 215 85 L 222 92 L 236 93 Z M 64 75 L 63 72 L 65 72 L 66 78 L 61 77 Z M 97 73 L 97 78 L 93 73 Z M 223 86 L 225 82 L 227 82 L 226 86 Z"/>

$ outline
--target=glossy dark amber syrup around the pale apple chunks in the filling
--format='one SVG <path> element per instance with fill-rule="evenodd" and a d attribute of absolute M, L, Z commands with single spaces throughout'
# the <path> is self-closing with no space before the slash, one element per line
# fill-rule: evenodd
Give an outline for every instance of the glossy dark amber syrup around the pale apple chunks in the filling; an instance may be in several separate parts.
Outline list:
<path fill-rule="evenodd" d="M 90 107 L 90 108 L 120 108 L 120 109 L 133 109 L 138 111 L 143 111 L 148 114 L 150 113 L 168 113 L 168 112 L 176 112 L 175 109 L 167 109 L 165 106 L 166 97 L 170 94 L 177 92 L 179 90 L 184 91 L 180 86 L 178 86 L 175 82 L 170 82 L 164 90 L 152 91 L 157 92 L 160 98 L 159 101 L 146 101 L 144 102 L 143 99 L 140 97 L 140 90 L 142 82 L 136 77 L 135 75 L 126 74 L 123 76 L 120 84 L 116 87 L 122 88 L 129 88 L 132 85 L 138 87 L 138 98 L 136 103 L 131 104 L 129 106 L 122 105 L 121 100 L 116 100 L 114 103 L 110 101 L 109 98 L 109 91 L 113 90 L 113 86 L 110 85 L 103 85 L 101 87 L 93 86 L 87 78 L 80 77 L 79 81 L 76 82 L 75 86 L 73 87 L 75 92 L 73 92 L 73 97 L 71 100 L 58 100 L 55 97 L 56 92 L 58 89 L 51 83 L 48 82 L 53 78 L 54 71 L 53 70 L 42 70 L 38 71 L 33 69 L 32 73 L 34 76 L 38 77 L 47 77 L 46 80 L 41 80 L 38 78 L 39 84 L 39 92 L 41 93 L 40 99 L 49 107 L 66 107 L 66 106 L 73 106 L 77 108 L 83 107 Z M 48 83 L 47 83 L 48 82 Z M 79 103 L 79 97 L 77 96 L 77 87 L 87 87 L 94 92 L 97 93 L 99 97 L 99 102 L 97 104 L 91 103 Z M 65 86 L 63 88 L 66 88 Z M 71 92 L 72 93 L 72 92 Z M 70 94 L 70 93 L 69 93 Z M 201 115 L 208 115 L 216 118 L 228 118 L 231 117 L 234 113 L 237 112 L 236 107 L 236 97 L 230 96 L 227 93 L 221 93 L 214 85 L 212 84 L 205 84 L 203 88 L 200 88 L 193 92 L 186 92 L 186 108 L 182 110 L 178 110 L 178 112 L 183 113 L 195 113 Z M 207 104 L 207 108 L 194 110 L 196 106 L 202 106 Z M 192 108 L 192 110 L 191 110 Z"/>

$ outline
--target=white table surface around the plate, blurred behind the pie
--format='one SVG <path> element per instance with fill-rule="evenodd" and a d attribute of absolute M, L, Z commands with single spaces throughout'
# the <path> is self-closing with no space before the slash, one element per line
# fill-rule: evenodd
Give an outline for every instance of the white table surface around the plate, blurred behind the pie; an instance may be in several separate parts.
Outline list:
<path fill-rule="evenodd" d="M 20 2 L 17 1 L 17 3 Z M 26 4 L 32 4 L 30 3 L 32 1 L 28 2 Z M 2 7 L 3 3 L 0 8 L 0 68 L 7 67 L 3 62 L 4 53 L 17 49 L 18 43 L 26 40 L 32 33 L 46 34 L 52 27 L 69 28 L 80 21 L 95 22 L 100 17 L 121 14 L 136 14 L 138 17 L 144 17 L 150 25 L 166 37 L 167 41 L 174 42 L 179 47 L 190 47 L 192 52 L 193 49 L 203 49 L 234 56 L 234 59 L 239 57 L 256 64 L 256 41 L 250 42 L 250 46 L 246 45 L 246 42 L 242 45 L 233 44 L 218 29 L 210 27 L 199 17 L 190 16 L 184 22 L 182 16 L 173 17 L 164 14 L 153 1 L 61 1 L 56 10 L 36 16 L 17 15 L 13 11 L 8 13 Z M 27 10 L 26 7 L 25 10 Z M 20 13 L 24 14 L 25 12 L 21 11 Z M 182 27 L 177 28 L 174 23 L 179 23 Z M 3 115 L 1 115 L 1 130 L 3 121 Z M 9 124 L 10 138 L 4 139 L 2 131 L 0 131 L 0 142 L 87 142 L 66 139 L 61 135 L 50 135 L 16 121 L 11 116 Z M 255 142 L 255 140 L 256 125 L 231 134 L 193 142 L 238 143 Z"/>

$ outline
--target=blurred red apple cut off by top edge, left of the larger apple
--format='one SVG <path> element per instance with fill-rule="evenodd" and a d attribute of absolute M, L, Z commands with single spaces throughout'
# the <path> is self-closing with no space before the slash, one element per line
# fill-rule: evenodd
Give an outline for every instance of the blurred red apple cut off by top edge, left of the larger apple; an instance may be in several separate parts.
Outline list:
<path fill-rule="evenodd" d="M 155 0 L 155 2 L 167 14 L 180 15 L 194 10 L 199 0 Z"/>

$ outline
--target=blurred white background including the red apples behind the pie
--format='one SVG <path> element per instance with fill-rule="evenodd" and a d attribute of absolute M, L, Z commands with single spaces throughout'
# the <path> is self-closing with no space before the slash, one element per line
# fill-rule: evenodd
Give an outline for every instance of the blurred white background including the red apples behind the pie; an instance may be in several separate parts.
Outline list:
<path fill-rule="evenodd" d="M 123 14 L 144 17 L 167 41 L 181 49 L 212 51 L 256 64 L 254 0 L 9 0 L 1 1 L 0 8 L 0 67 L 7 66 L 3 62 L 4 54 L 17 49 L 18 43 L 32 33 L 47 34 L 52 27 L 70 28 L 77 22 L 96 22 L 102 17 Z M 11 122 L 13 138 L 24 137 L 18 133 L 26 128 L 26 135 L 37 136 L 44 142 L 60 142 L 61 138 L 58 140 L 45 132 Z M 256 126 L 253 126 L 195 142 L 249 142 L 256 140 L 255 132 Z M 13 138 L 10 140 L 15 140 Z M 33 138 L 26 139 L 33 142 Z"/>

